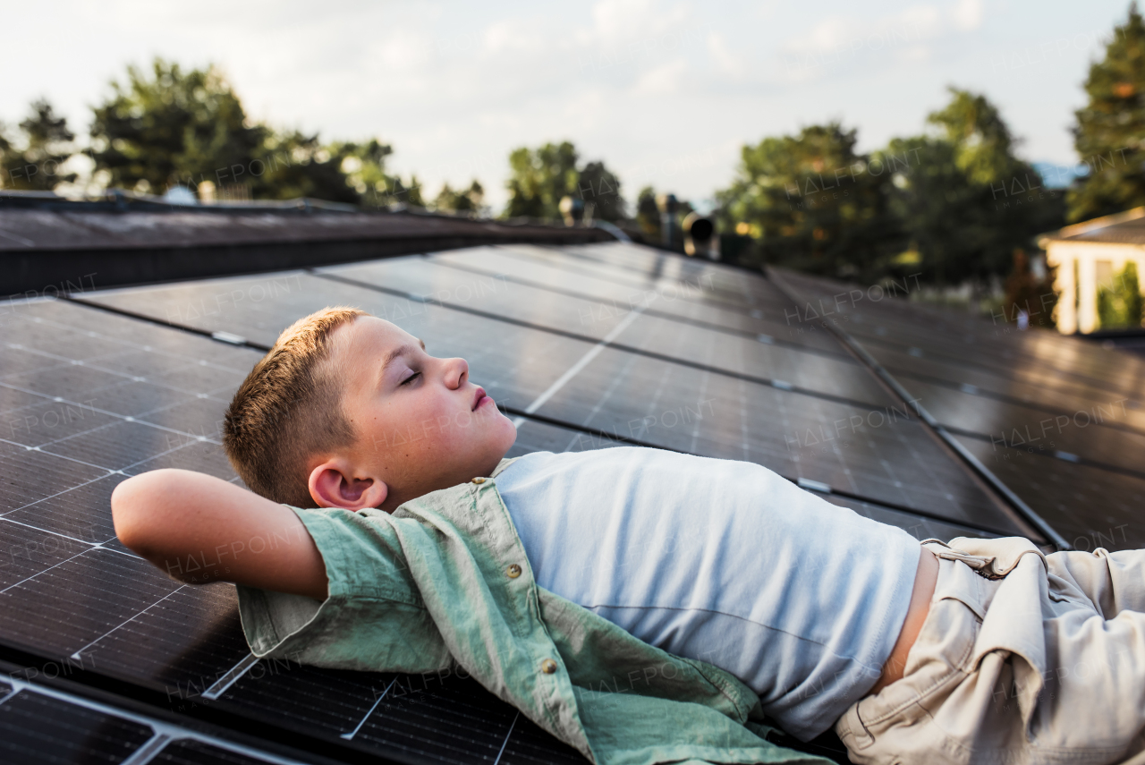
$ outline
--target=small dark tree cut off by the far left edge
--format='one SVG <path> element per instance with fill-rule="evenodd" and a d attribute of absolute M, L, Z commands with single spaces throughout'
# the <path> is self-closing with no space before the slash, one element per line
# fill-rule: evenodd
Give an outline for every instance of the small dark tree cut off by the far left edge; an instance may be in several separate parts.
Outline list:
<path fill-rule="evenodd" d="M 0 129 L 0 187 L 50 191 L 60 183 L 73 182 L 76 173 L 65 173 L 60 166 L 74 153 L 74 139 L 66 117 L 57 116 L 44 98 L 33 102 L 15 141 Z"/>

